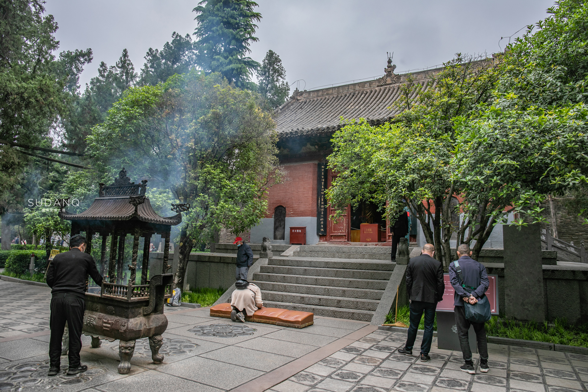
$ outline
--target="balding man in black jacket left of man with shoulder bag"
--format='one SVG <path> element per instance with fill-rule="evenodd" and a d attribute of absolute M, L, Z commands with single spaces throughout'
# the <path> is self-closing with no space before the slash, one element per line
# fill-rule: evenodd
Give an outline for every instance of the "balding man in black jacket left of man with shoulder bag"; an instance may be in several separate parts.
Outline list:
<path fill-rule="evenodd" d="M 398 352 L 412 356 L 420 318 L 425 313 L 425 333 L 420 344 L 420 361 L 430 360 L 429 351 L 433 341 L 433 323 L 437 302 L 443 300 L 445 283 L 443 265 L 433 258 L 435 247 L 426 244 L 419 257 L 411 258 L 406 267 L 406 293 L 410 300 L 410 327 L 405 347 Z"/>

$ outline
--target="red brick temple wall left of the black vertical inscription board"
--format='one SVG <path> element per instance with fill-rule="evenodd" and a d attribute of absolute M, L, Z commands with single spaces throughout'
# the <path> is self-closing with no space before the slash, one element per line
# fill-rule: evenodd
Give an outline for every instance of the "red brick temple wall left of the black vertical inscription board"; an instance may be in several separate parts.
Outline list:
<path fill-rule="evenodd" d="M 271 218 L 278 205 L 286 207 L 286 217 L 316 217 L 316 163 L 285 165 L 289 181 L 274 185 L 268 191 Z"/>

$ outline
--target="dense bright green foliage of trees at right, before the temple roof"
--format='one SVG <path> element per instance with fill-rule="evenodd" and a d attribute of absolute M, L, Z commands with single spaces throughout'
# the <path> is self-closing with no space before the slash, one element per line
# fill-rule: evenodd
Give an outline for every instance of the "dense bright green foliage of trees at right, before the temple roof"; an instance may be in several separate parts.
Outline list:
<path fill-rule="evenodd" d="M 388 124 L 336 132 L 329 201 L 388 202 L 390 217 L 411 208 L 447 267 L 452 235 L 475 240 L 476 258 L 510 212 L 514 224 L 539 222 L 549 194 L 586 190 L 588 5 L 560 1 L 549 13 L 493 60 L 458 55 L 427 84 L 409 77 Z"/>

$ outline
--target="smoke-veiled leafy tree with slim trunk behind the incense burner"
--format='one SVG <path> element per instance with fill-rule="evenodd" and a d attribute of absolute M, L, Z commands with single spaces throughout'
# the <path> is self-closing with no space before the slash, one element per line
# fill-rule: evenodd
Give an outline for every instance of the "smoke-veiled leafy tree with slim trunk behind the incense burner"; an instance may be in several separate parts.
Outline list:
<path fill-rule="evenodd" d="M 210 240 L 221 225 L 241 232 L 263 217 L 265 192 L 280 176 L 276 139 L 275 122 L 255 94 L 192 69 L 129 89 L 93 129 L 88 151 L 97 171 L 123 164 L 191 204 L 179 235 L 177 287 L 193 244 Z"/>

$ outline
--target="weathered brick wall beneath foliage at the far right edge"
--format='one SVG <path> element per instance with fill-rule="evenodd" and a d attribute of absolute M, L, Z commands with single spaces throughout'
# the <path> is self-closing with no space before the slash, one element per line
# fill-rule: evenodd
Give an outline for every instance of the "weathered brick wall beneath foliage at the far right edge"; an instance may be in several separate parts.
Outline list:
<path fill-rule="evenodd" d="M 574 242 L 577 247 L 580 246 L 580 241 L 588 245 L 588 225 L 582 224 L 582 218 L 577 215 L 568 214 L 564 207 L 564 202 L 569 201 L 567 197 L 557 197 L 553 201 L 556 221 L 557 221 L 557 238 L 566 242 Z M 551 210 L 549 207 L 549 200 L 542 202 L 541 207 L 543 217 L 547 220 L 547 224 L 541 224 L 541 228 L 551 225 Z"/>

